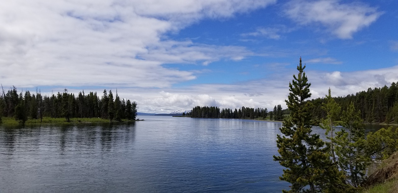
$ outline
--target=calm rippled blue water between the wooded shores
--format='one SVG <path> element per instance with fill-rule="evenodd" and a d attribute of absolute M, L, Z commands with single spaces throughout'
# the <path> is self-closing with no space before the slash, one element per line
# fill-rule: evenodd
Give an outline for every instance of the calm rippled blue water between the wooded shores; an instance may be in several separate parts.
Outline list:
<path fill-rule="evenodd" d="M 281 192 L 281 123 L 140 116 L 0 127 L 0 192 Z M 317 129 L 314 129 L 317 131 Z M 323 133 L 323 131 L 319 131 Z"/>

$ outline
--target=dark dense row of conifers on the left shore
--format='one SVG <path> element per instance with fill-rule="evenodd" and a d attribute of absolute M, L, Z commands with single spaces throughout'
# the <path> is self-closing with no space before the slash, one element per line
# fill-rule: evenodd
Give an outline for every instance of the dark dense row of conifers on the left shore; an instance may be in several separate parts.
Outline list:
<path fill-rule="evenodd" d="M 103 118 L 120 121 L 122 119 L 135 120 L 137 117 L 137 103 L 121 99 L 116 93 L 115 98 L 109 90 L 103 91 L 101 98 L 97 92 L 88 95 L 81 91 L 75 96 L 64 89 L 63 93 L 42 96 L 40 92 L 18 94 L 17 88 L 12 87 L 7 93 L 0 95 L 0 117 L 15 117 L 24 123 L 28 118 L 41 119 L 44 117 L 66 118 Z"/>

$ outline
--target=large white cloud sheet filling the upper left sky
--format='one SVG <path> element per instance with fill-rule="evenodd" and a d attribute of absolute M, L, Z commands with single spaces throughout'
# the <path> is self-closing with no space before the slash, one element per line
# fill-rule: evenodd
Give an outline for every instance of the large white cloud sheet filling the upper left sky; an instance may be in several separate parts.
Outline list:
<path fill-rule="evenodd" d="M 2 2 L 0 64 L 3 85 L 170 87 L 195 73 L 167 63 L 241 60 L 240 46 L 172 41 L 203 18 L 228 18 L 275 0 L 104 0 Z"/>

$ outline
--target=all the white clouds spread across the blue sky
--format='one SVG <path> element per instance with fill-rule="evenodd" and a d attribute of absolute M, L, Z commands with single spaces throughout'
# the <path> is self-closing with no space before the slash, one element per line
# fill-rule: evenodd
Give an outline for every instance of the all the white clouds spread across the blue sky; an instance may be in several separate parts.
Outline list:
<path fill-rule="evenodd" d="M 163 66 L 168 63 L 206 66 L 215 61 L 243 60 L 255 55 L 242 46 L 174 41 L 165 34 L 178 33 L 200 19 L 234 17 L 275 1 L 4 1 L 0 3 L 1 83 L 6 87 L 23 87 L 24 90 L 26 87 L 47 87 L 55 93 L 77 85 L 86 92 L 97 91 L 100 96 L 103 88 L 108 91 L 118 88 L 121 97 L 138 102 L 140 112 L 169 113 L 198 105 L 273 108 L 282 104 L 285 107 L 288 83 L 291 75 L 297 73 L 295 68 L 285 70 L 289 64 L 267 64 L 267 70 L 278 70 L 278 73 L 264 79 L 179 88 L 172 85 L 196 79 L 197 74 L 206 70 L 179 70 Z M 303 13 L 297 15 L 300 24 L 321 23 L 340 38 L 351 37 L 380 15 L 374 8 L 359 4 L 339 4 L 337 1 L 301 4 L 306 7 L 292 2 L 288 14 L 293 17 Z M 302 10 L 296 13 L 296 8 Z M 286 31 L 278 27 L 265 27 L 255 33 L 252 35 L 278 39 Z M 285 57 L 286 53 L 291 52 L 281 53 L 270 46 L 267 53 L 261 56 Z M 339 63 L 334 58 L 309 61 Z M 351 73 L 308 71 L 307 75 L 312 83 L 313 97 L 324 96 L 328 87 L 337 96 L 343 96 L 397 81 L 396 73 L 392 73 L 397 70 L 398 67 Z M 102 89 L 87 89 L 87 86 Z M 78 93 L 80 90 L 68 91 Z"/>

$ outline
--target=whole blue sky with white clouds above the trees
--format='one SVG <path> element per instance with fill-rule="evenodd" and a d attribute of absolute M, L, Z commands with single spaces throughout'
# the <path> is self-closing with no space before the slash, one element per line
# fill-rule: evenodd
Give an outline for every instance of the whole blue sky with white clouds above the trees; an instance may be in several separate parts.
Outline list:
<path fill-rule="evenodd" d="M 396 0 L 0 2 L 8 90 L 103 89 L 139 112 L 285 105 L 300 56 L 312 97 L 398 81 Z"/>

